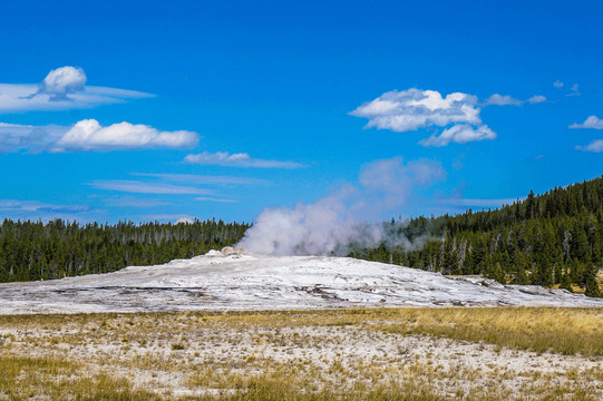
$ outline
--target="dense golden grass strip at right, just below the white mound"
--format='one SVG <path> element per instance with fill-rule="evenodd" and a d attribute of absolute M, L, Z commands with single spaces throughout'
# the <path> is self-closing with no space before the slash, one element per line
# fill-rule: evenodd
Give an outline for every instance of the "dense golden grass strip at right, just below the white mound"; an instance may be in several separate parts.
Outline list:
<path fill-rule="evenodd" d="M 517 350 L 603 355 L 603 310 L 554 307 L 400 310 L 385 330 Z"/>

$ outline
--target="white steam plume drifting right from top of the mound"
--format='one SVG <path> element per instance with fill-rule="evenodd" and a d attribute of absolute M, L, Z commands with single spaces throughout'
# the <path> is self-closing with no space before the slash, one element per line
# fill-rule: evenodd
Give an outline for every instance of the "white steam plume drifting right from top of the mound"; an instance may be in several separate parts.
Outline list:
<path fill-rule="evenodd" d="M 399 231 L 366 222 L 383 218 L 407 204 L 415 189 L 445 177 L 437 162 L 377 160 L 363 166 L 356 186 L 341 185 L 312 204 L 265 209 L 239 245 L 276 255 L 346 254 L 351 244 L 377 246 L 381 242 L 409 247 Z"/>

